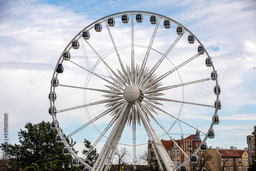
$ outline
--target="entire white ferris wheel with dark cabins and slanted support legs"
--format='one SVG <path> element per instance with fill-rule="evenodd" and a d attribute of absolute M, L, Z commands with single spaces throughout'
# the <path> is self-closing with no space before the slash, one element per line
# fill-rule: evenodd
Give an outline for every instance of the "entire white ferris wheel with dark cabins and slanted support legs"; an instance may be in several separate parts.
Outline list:
<path fill-rule="evenodd" d="M 190 156 L 176 139 L 198 132 L 203 140 L 191 156 L 207 149 L 219 123 L 220 93 L 212 59 L 193 33 L 161 14 L 126 11 L 91 23 L 63 50 L 51 81 L 49 114 L 56 141 L 65 144 L 63 153 L 73 155 L 74 165 L 107 170 L 120 144 L 131 147 L 136 165 L 139 148 L 150 142 L 168 171 L 185 170 Z M 84 162 L 89 153 L 76 154 L 69 138 L 77 144 L 90 140 L 89 152 L 97 147 L 93 167 Z M 180 165 L 161 139 L 180 149 Z"/>

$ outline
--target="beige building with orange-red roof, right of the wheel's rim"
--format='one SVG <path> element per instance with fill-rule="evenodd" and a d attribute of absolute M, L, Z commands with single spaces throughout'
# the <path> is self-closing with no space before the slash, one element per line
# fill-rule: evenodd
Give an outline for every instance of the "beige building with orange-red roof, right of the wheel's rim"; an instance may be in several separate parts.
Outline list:
<path fill-rule="evenodd" d="M 249 168 L 249 155 L 245 149 L 233 146 L 230 149 L 216 147 L 208 149 L 207 152 L 213 157 L 208 163 L 211 170 L 247 171 Z"/>

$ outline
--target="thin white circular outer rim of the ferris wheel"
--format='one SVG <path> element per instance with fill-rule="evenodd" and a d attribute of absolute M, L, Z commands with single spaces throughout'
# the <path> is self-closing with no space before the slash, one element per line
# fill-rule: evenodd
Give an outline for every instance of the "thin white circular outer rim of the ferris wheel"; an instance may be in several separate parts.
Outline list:
<path fill-rule="evenodd" d="M 56 69 L 57 69 L 58 63 L 62 63 L 62 62 L 63 62 L 63 58 L 62 58 L 63 53 L 65 53 L 67 50 L 69 51 L 69 50 L 72 48 L 72 46 L 71 46 L 72 42 L 73 42 L 75 39 L 79 39 L 79 38 L 81 37 L 81 33 L 82 33 L 83 31 L 85 31 L 85 30 L 91 30 L 91 29 L 93 28 L 94 24 L 96 24 L 96 23 L 103 23 L 104 20 L 107 19 L 107 18 L 109 18 L 109 17 L 114 17 L 114 18 L 116 18 L 116 17 L 121 16 L 122 14 L 134 15 L 134 14 L 136 14 L 136 13 L 141 13 L 142 15 L 157 15 L 157 16 L 159 16 L 160 18 L 169 19 L 169 20 L 171 21 L 171 23 L 174 23 L 174 24 L 176 24 L 177 26 L 181 26 L 181 27 L 183 27 L 184 29 L 186 29 L 186 31 L 187 31 L 189 34 L 191 34 L 191 35 L 193 35 L 193 36 L 195 37 L 195 39 L 198 41 L 199 45 L 203 46 L 202 43 L 200 42 L 200 40 L 199 40 L 192 32 L 190 32 L 186 27 L 184 27 L 182 24 L 176 22 L 176 21 L 173 20 L 172 18 L 166 17 L 166 16 L 161 15 L 161 14 L 158 14 L 158 13 L 147 12 L 147 11 L 123 11 L 123 12 L 118 12 L 118 13 L 114 13 L 114 14 L 110 14 L 110 15 L 104 16 L 104 17 L 102 17 L 102 18 L 96 20 L 95 22 L 91 23 L 90 25 L 88 25 L 87 27 L 85 27 L 84 29 L 82 29 L 76 36 L 74 36 L 74 38 L 69 42 L 69 44 L 67 45 L 67 47 L 65 48 L 65 50 L 63 50 L 63 52 L 62 52 L 61 55 L 60 55 L 60 57 L 59 57 L 59 59 L 58 59 L 58 61 L 57 61 L 57 65 L 56 65 L 56 67 L 55 67 L 55 69 L 54 69 L 54 73 L 53 73 L 53 76 L 52 76 L 52 80 L 53 80 L 55 77 L 57 77 L 57 75 L 58 75 L 58 73 L 56 73 Z M 205 48 L 204 48 L 204 52 L 206 53 L 207 57 L 210 58 L 210 56 L 209 56 L 209 54 L 208 54 L 208 52 L 207 52 L 207 50 L 206 50 Z M 214 65 L 213 65 L 213 63 L 212 63 L 212 60 L 211 60 L 211 64 L 212 64 L 211 67 L 212 67 L 212 69 L 213 69 L 213 72 L 216 72 L 216 70 L 215 70 L 215 68 L 214 68 Z M 215 79 L 215 82 L 216 82 L 216 86 L 218 87 L 218 85 L 219 85 L 219 84 L 218 84 L 218 78 Z M 54 90 L 55 90 L 55 87 L 53 86 L 53 82 L 51 81 L 50 93 L 54 92 Z M 217 102 L 219 101 L 219 94 L 216 95 L 216 101 L 217 101 Z M 50 108 L 52 108 L 52 106 L 54 106 L 54 102 L 52 101 L 52 97 L 50 97 Z M 218 109 L 215 108 L 214 117 L 217 116 L 217 112 L 218 112 Z M 56 115 L 54 115 L 53 113 L 52 113 L 52 119 L 53 119 L 54 123 L 55 123 L 55 121 L 57 120 Z M 191 156 L 193 156 L 193 155 L 195 155 L 195 154 L 198 153 L 198 151 L 200 150 L 201 145 L 207 140 L 208 134 L 209 134 L 209 132 L 210 132 L 210 130 L 212 129 L 213 126 L 214 126 L 214 121 L 211 122 L 211 125 L 210 125 L 210 127 L 209 127 L 208 132 L 207 132 L 207 135 L 206 135 L 205 138 L 202 140 L 202 143 L 199 145 L 199 147 L 196 149 L 196 151 L 195 151 L 193 154 L 191 154 Z M 55 127 L 56 127 L 56 125 L 55 125 Z M 58 135 L 60 136 L 60 138 L 61 138 L 63 144 L 64 144 L 67 148 L 69 148 L 69 144 L 68 144 L 67 141 L 66 141 L 65 139 L 63 139 L 62 136 L 61 136 L 62 133 L 61 133 L 60 129 L 56 129 L 56 130 L 57 130 L 57 133 L 58 133 Z M 79 158 L 79 157 L 75 154 L 75 152 L 73 152 L 72 150 L 71 150 L 71 154 L 72 154 L 76 159 L 78 159 L 81 164 L 83 164 L 83 165 L 86 166 L 86 167 L 92 168 L 92 167 L 89 166 L 87 163 L 85 163 L 84 161 L 80 160 L 80 158 Z M 183 163 L 181 163 L 181 164 L 180 164 L 179 166 L 177 166 L 175 169 L 180 168 L 180 166 L 184 165 L 188 160 L 190 160 L 190 157 L 187 158 Z"/>

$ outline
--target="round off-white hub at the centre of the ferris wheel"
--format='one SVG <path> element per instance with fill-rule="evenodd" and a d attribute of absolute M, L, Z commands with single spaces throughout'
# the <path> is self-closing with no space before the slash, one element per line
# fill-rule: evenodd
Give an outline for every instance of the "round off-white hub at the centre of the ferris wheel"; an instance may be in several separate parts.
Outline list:
<path fill-rule="evenodd" d="M 123 90 L 123 97 L 126 101 L 133 102 L 136 101 L 140 96 L 140 91 L 135 86 L 127 86 Z"/>

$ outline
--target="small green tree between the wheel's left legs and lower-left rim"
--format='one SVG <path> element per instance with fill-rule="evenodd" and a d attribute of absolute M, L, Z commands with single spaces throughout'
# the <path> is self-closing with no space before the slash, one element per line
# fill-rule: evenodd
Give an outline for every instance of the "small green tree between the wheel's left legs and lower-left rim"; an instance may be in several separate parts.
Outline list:
<path fill-rule="evenodd" d="M 91 142 L 88 141 L 87 139 L 84 139 L 83 143 L 86 147 L 86 149 L 83 149 L 82 151 L 83 155 L 86 155 L 89 152 L 89 150 L 91 150 L 91 152 L 87 155 L 86 159 L 84 159 L 84 162 L 88 163 L 90 166 L 93 166 L 94 162 L 97 160 L 99 156 L 99 154 L 97 153 L 97 149 L 92 148 Z"/>

